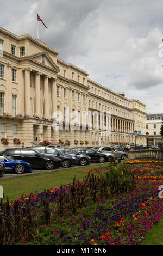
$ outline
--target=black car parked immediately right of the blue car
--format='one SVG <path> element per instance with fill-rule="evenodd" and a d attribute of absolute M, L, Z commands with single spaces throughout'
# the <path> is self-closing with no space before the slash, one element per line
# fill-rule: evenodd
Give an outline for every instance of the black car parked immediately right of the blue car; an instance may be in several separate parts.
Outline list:
<path fill-rule="evenodd" d="M 0 154 L 12 156 L 16 160 L 18 159 L 30 163 L 33 169 L 53 170 L 62 167 L 62 160 L 60 158 L 48 154 L 45 156 L 29 148 L 5 149 Z"/>

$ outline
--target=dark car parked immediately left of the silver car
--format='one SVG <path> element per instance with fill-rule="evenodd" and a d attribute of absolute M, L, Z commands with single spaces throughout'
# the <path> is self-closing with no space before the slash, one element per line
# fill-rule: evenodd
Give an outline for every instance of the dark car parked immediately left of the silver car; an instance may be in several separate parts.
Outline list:
<path fill-rule="evenodd" d="M 86 154 L 91 157 L 91 162 L 104 163 L 106 160 L 106 155 L 96 152 L 90 148 L 72 148 L 78 153 Z"/>

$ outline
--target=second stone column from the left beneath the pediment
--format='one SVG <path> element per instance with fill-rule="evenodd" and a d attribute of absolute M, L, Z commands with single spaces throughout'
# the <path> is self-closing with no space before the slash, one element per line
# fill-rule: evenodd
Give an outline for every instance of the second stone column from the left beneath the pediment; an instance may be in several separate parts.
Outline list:
<path fill-rule="evenodd" d="M 35 113 L 40 117 L 41 106 L 40 106 L 40 73 L 35 74 Z"/>

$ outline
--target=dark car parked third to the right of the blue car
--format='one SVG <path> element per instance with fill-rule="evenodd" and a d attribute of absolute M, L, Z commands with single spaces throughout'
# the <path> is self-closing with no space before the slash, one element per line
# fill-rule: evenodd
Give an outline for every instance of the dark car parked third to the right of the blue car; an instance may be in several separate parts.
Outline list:
<path fill-rule="evenodd" d="M 66 147 L 58 147 L 56 149 L 66 155 L 76 157 L 78 160 L 78 164 L 80 164 L 81 166 L 85 166 L 86 164 L 91 163 L 91 157 L 86 154 L 78 153 L 75 150 Z"/>

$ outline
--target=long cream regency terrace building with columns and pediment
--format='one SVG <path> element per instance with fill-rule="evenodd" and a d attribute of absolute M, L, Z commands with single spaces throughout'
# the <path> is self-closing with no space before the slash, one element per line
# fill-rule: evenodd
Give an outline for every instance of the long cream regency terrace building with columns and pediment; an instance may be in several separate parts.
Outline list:
<path fill-rule="evenodd" d="M 135 142 L 135 130 L 139 131 L 137 144 L 146 144 L 146 106 L 139 100 L 90 80 L 86 71 L 59 59 L 56 50 L 29 34 L 17 36 L 0 28 L 0 49 L 0 135 L 9 141 L 8 145 L 1 143 L 1 149 L 18 147 L 14 138 L 26 146 L 45 139 L 52 144 L 67 140 L 70 147 L 77 142 L 83 147 L 86 143 L 130 144 Z M 109 133 L 100 125 L 95 127 L 94 115 L 90 128 L 87 113 L 95 111 L 110 113 Z M 63 129 L 57 130 L 53 122 L 60 113 Z M 78 123 L 81 129 L 65 125 L 68 113 L 70 120 L 77 113 L 74 126 Z"/>

